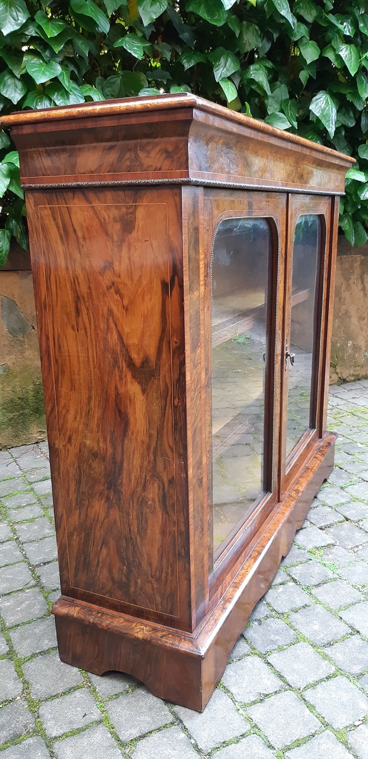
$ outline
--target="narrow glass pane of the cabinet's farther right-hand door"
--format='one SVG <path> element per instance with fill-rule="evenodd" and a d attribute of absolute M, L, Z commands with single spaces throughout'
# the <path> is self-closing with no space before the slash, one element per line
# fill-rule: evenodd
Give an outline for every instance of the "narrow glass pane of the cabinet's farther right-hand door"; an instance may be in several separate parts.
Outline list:
<path fill-rule="evenodd" d="M 317 328 L 317 274 L 320 260 L 322 223 L 320 216 L 300 216 L 295 225 L 292 253 L 292 304 L 288 351 L 288 420 L 286 456 L 301 436 L 316 427 L 316 404 L 313 397 L 315 374 L 314 349 L 320 341 Z"/>

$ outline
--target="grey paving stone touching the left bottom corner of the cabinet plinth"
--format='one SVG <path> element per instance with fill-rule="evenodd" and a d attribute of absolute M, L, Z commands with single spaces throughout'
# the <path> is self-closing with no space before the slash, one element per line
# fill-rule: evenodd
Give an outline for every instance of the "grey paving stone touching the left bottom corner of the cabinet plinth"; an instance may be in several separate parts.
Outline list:
<path fill-rule="evenodd" d="M 61 662 L 58 651 L 25 662 L 23 672 L 30 683 L 33 698 L 49 698 L 68 691 L 74 685 L 83 685 L 79 670 Z"/>

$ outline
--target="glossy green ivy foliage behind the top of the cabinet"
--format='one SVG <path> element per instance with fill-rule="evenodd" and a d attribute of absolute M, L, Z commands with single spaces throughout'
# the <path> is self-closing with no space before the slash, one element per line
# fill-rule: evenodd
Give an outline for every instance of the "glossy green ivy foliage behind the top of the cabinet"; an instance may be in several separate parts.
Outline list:
<path fill-rule="evenodd" d="M 0 0 L 0 111 L 192 92 L 354 156 L 340 225 L 368 228 L 365 0 Z M 27 248 L 19 160 L 0 131 L 0 263 Z"/>

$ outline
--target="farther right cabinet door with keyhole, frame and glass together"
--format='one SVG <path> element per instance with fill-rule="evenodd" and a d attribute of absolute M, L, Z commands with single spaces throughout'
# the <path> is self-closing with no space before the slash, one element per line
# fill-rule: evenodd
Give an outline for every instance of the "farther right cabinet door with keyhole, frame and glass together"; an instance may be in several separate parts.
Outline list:
<path fill-rule="evenodd" d="M 330 216 L 329 197 L 289 196 L 279 455 L 281 497 L 319 436 Z"/>

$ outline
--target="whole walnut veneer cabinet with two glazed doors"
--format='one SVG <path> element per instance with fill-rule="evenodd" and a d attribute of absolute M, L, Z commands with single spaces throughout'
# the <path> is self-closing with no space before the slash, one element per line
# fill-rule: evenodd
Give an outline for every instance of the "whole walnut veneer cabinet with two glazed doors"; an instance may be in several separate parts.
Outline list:
<path fill-rule="evenodd" d="M 187 94 L 2 125 L 30 227 L 61 660 L 201 711 L 332 470 L 352 160 Z"/>

